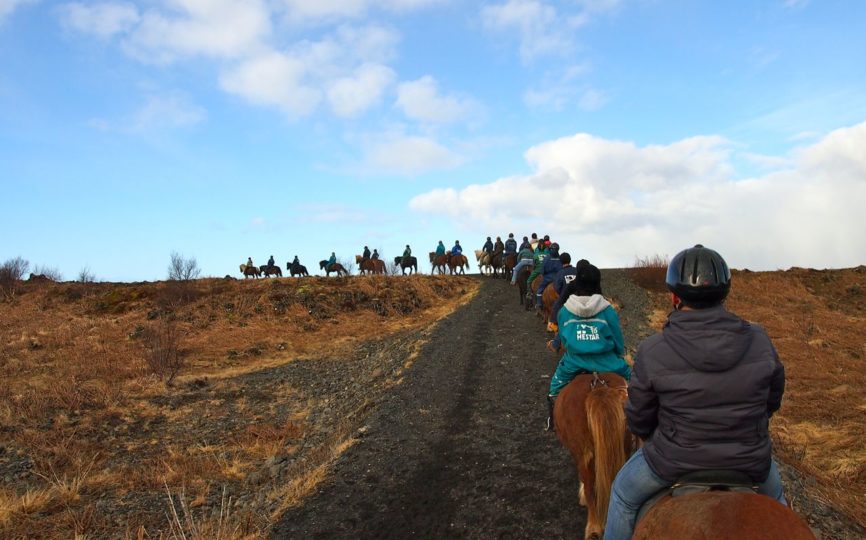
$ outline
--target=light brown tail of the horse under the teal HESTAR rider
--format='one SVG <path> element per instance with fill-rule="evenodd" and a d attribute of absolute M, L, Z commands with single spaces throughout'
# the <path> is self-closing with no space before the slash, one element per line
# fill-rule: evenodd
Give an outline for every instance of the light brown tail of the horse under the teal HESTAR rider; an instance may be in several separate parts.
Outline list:
<path fill-rule="evenodd" d="M 619 390 L 602 386 L 586 397 L 586 419 L 595 458 L 597 523 L 607 523 L 610 488 L 626 461 L 625 412 Z"/>

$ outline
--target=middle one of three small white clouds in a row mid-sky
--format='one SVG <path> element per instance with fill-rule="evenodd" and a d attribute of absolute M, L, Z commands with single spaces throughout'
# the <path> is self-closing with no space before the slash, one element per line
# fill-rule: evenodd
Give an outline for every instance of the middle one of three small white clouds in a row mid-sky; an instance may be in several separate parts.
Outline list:
<path fill-rule="evenodd" d="M 378 103 L 382 93 L 396 78 L 397 75 L 389 67 L 364 64 L 352 76 L 331 83 L 328 102 L 337 116 L 356 116 Z"/>

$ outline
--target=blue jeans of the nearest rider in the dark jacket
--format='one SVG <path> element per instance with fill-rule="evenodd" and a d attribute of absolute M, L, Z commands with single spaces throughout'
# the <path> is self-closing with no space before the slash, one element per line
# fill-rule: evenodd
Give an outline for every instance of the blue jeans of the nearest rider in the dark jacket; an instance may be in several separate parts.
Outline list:
<path fill-rule="evenodd" d="M 641 505 L 662 489 L 669 487 L 668 482 L 656 476 L 643 456 L 643 448 L 625 462 L 616 475 L 610 493 L 607 509 L 607 525 L 604 540 L 631 540 L 634 533 L 637 512 Z M 770 475 L 758 486 L 758 493 L 773 497 L 788 506 L 782 493 L 782 478 L 775 461 L 770 462 Z"/>

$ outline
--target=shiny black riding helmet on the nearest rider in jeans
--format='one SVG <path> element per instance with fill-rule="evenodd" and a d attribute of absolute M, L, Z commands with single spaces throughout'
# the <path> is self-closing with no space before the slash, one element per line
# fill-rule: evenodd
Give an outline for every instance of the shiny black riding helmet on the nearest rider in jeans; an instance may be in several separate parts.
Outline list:
<path fill-rule="evenodd" d="M 716 251 L 697 244 L 674 255 L 665 284 L 688 306 L 712 307 L 728 296 L 731 270 Z"/>

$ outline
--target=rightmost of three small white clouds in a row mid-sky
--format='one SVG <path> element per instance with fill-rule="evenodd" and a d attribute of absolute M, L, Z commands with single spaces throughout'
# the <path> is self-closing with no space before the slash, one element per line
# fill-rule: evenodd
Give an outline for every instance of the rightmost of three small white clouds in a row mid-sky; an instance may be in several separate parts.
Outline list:
<path fill-rule="evenodd" d="M 439 95 L 436 80 L 427 75 L 400 84 L 397 107 L 413 120 L 449 123 L 465 121 L 475 105 L 469 99 Z"/>

